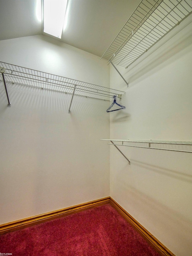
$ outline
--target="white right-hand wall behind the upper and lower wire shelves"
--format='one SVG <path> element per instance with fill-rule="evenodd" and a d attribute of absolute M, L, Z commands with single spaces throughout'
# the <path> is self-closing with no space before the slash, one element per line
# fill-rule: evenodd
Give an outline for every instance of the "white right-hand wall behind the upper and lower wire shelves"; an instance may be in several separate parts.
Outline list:
<path fill-rule="evenodd" d="M 192 140 L 192 17 L 128 69 L 111 66 L 125 110 L 110 113 L 110 138 Z M 110 146 L 110 196 L 177 256 L 192 255 L 192 154 Z"/>

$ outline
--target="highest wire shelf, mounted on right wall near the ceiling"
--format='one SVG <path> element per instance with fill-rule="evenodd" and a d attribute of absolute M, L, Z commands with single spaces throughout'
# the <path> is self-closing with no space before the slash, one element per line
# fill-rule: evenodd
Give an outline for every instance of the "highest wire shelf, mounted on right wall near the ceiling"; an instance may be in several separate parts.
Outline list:
<path fill-rule="evenodd" d="M 192 13 L 192 0 L 142 0 L 101 57 L 128 68 Z"/>

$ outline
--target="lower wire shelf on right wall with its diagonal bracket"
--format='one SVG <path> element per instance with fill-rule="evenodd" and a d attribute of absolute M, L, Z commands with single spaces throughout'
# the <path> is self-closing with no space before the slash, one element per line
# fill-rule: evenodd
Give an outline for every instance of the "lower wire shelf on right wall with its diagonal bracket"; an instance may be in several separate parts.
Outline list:
<path fill-rule="evenodd" d="M 111 143 L 108 143 L 108 144 L 114 145 L 116 149 L 118 149 L 119 152 L 127 159 L 129 164 L 131 164 L 131 162 L 117 146 L 192 153 L 192 141 L 112 140 L 112 139 L 101 139 L 101 140 L 110 141 Z"/>

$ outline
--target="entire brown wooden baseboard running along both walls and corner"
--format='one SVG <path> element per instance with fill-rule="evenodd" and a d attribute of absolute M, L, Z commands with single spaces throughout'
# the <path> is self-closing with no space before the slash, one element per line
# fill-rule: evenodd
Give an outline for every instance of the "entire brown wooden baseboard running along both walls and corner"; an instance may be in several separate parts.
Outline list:
<path fill-rule="evenodd" d="M 101 206 L 103 204 L 110 203 L 122 216 L 128 221 L 138 233 L 143 236 L 144 239 L 156 250 L 161 256 L 175 256 L 168 248 L 166 248 L 155 236 L 153 236 L 148 230 L 146 230 L 138 221 L 136 221 L 128 212 L 126 212 L 115 200 L 111 197 L 105 197 L 102 199 L 94 200 L 88 203 L 82 203 L 75 206 L 67 207 L 53 212 L 40 214 L 37 216 L 25 218 L 18 221 L 9 222 L 0 225 L 0 235 L 15 231 L 24 227 L 40 224 L 45 221 L 49 221 L 55 218 L 64 217 L 76 212 L 81 212 L 90 208 Z"/>

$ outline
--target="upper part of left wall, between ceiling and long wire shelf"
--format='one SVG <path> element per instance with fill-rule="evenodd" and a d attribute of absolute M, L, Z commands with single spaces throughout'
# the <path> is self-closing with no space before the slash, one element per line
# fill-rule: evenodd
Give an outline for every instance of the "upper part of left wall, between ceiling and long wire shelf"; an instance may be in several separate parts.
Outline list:
<path fill-rule="evenodd" d="M 3 62 L 109 87 L 105 60 L 53 38 L 14 38 L 0 41 L 0 46 Z"/>

